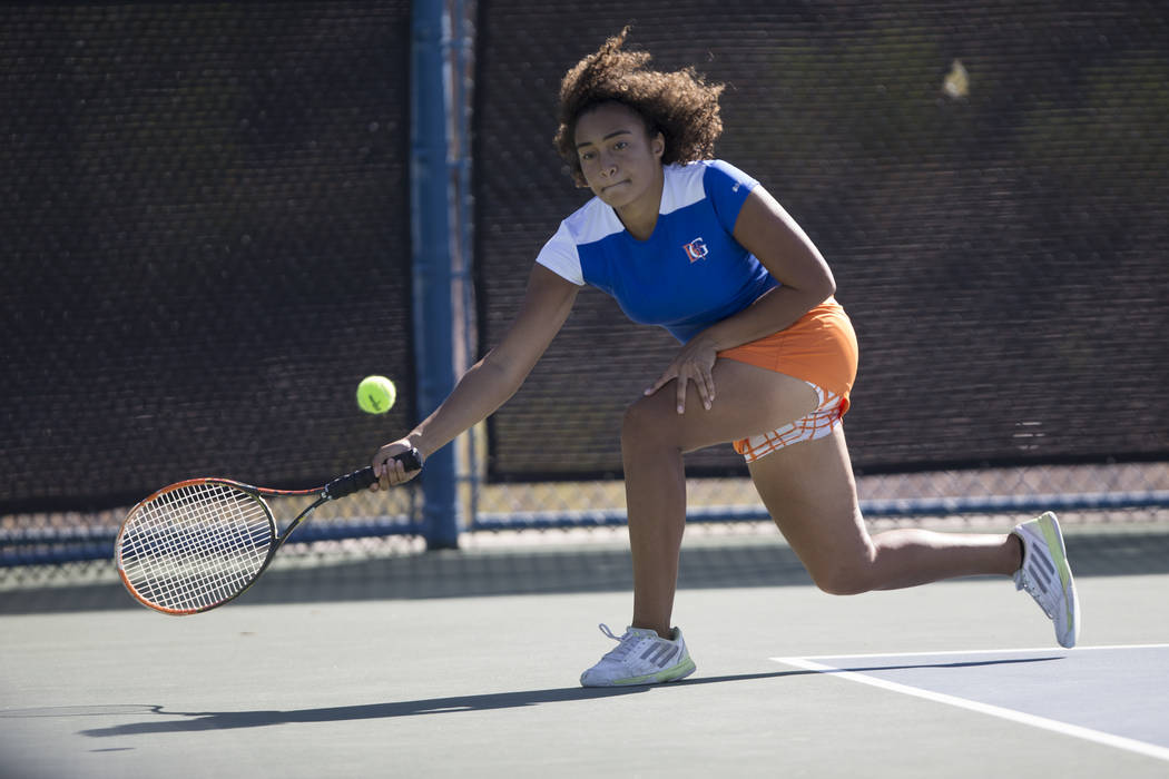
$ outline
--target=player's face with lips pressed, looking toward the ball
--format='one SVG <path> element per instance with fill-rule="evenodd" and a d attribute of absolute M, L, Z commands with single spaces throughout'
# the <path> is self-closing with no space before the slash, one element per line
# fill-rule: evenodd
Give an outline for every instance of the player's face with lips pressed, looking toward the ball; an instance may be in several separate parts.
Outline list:
<path fill-rule="evenodd" d="M 662 197 L 662 133 L 650 137 L 641 116 L 604 103 L 576 120 L 576 154 L 589 189 L 618 211 L 652 207 Z M 652 201 L 652 202 L 650 202 Z"/>

